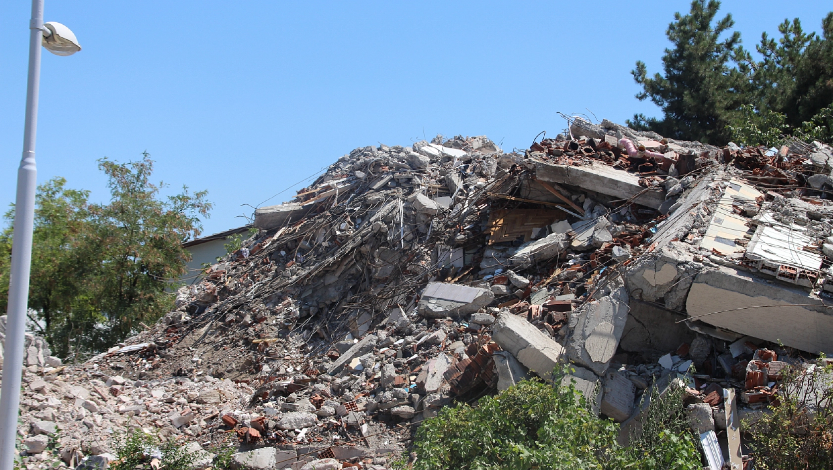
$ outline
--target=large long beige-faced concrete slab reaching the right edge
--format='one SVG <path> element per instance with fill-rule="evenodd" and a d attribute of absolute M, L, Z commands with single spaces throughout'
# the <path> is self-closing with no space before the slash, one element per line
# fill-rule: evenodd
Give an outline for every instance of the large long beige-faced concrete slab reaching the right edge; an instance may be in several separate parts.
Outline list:
<path fill-rule="evenodd" d="M 833 353 L 833 309 L 800 287 L 723 266 L 696 275 L 689 317 L 811 353 Z"/>

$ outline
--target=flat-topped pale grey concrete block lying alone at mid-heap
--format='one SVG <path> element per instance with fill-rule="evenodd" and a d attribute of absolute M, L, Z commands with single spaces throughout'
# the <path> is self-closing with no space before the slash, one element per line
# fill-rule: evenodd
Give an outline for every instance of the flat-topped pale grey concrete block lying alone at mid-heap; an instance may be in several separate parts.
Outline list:
<path fill-rule="evenodd" d="M 432 282 L 422 291 L 417 308 L 422 316 L 446 318 L 473 314 L 494 299 L 495 294 L 489 289 Z"/>

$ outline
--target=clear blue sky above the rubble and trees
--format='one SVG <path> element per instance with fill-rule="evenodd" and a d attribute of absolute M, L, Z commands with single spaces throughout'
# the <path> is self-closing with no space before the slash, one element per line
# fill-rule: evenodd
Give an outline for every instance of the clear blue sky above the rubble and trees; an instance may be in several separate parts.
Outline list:
<path fill-rule="evenodd" d="M 639 59 L 661 71 L 666 26 L 689 5 L 47 0 L 45 20 L 83 50 L 43 52 L 38 181 L 63 176 L 107 200 L 97 159 L 147 150 L 157 180 L 209 191 L 209 234 L 357 146 L 485 134 L 511 151 L 563 129 L 558 111 L 658 116 L 629 72 Z M 721 12 L 751 48 L 786 17 L 818 31 L 831 9 L 731 0 Z M 3 207 L 22 149 L 29 11 L 0 4 Z"/>

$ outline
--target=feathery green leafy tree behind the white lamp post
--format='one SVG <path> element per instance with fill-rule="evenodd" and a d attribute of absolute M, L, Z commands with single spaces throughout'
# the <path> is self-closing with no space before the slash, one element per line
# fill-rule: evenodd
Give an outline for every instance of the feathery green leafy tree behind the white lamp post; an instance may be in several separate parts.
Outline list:
<path fill-rule="evenodd" d="M 162 198 L 147 154 L 127 164 L 102 159 L 112 199 L 55 178 L 38 188 L 29 307 L 32 324 L 62 357 L 91 354 L 136 334 L 172 304 L 171 281 L 185 272 L 181 243 L 199 234 L 206 191 Z M 0 309 L 5 311 L 14 210 L 0 233 Z"/>

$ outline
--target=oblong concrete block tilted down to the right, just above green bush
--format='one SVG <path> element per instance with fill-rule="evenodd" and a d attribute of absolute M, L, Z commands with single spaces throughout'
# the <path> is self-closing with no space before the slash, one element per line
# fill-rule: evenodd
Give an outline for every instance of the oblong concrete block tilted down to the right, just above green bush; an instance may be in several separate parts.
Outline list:
<path fill-rule="evenodd" d="M 563 358 L 564 348 L 541 333 L 531 323 L 509 313 L 501 313 L 491 326 L 492 339 L 541 378 L 552 377 L 553 369 Z"/>

